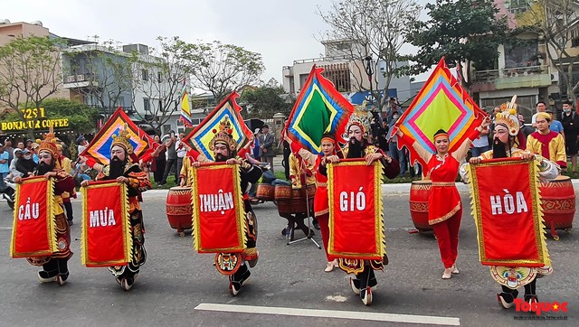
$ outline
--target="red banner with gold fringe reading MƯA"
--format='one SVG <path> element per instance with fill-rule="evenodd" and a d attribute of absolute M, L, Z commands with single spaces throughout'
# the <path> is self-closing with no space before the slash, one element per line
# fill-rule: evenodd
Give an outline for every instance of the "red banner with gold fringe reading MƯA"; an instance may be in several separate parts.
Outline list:
<path fill-rule="evenodd" d="M 81 261 L 83 265 L 125 266 L 132 238 L 127 186 L 117 181 L 90 182 L 82 192 Z"/>

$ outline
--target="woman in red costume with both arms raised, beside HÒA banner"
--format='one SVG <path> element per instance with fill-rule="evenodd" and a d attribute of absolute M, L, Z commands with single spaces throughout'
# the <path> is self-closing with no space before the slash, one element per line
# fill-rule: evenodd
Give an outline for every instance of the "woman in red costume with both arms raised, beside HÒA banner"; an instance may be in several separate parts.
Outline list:
<path fill-rule="evenodd" d="M 427 178 L 432 180 L 432 191 L 428 201 L 428 223 L 432 225 L 438 240 L 438 248 L 441 251 L 441 260 L 444 265 L 442 279 L 449 279 L 452 274 L 459 274 L 456 258 L 459 254 L 462 203 L 455 181 L 459 173 L 460 160 L 466 157 L 472 140 L 477 139 L 480 132 L 489 125 L 490 119 L 487 117 L 451 154 L 449 153 L 449 135 L 442 129 L 434 134 L 436 154 L 432 154 L 417 142 L 413 143 L 414 150 L 424 162 L 428 163 Z M 403 137 L 400 130 L 397 135 Z"/>

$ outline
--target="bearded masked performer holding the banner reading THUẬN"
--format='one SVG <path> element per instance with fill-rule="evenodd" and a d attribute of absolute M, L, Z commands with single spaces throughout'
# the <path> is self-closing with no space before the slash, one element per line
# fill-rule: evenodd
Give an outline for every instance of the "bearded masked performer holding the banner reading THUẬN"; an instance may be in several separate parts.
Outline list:
<path fill-rule="evenodd" d="M 239 164 L 240 166 L 240 176 L 241 176 L 241 190 L 243 192 L 243 206 L 245 208 L 245 220 L 246 220 L 246 238 L 247 238 L 247 248 L 243 250 L 242 262 L 239 269 L 231 276 L 229 276 L 229 290 L 230 293 L 234 295 L 239 294 L 242 289 L 243 283 L 252 275 L 250 269 L 247 267 L 253 267 L 257 264 L 258 251 L 257 251 L 257 219 L 255 218 L 255 213 L 252 210 L 252 205 L 249 200 L 249 195 L 247 194 L 249 183 L 258 182 L 261 178 L 260 167 L 247 163 L 239 157 L 235 156 L 236 144 L 233 140 L 233 136 L 228 133 L 231 130 L 227 126 L 215 134 L 214 139 L 211 141 L 210 148 L 214 151 L 214 158 L 216 163 L 228 163 L 228 164 Z M 201 163 L 210 163 L 211 161 L 207 159 L 203 154 L 198 155 L 198 161 L 193 163 L 193 166 L 199 167 Z M 223 253 L 222 257 L 227 257 L 230 254 Z M 247 261 L 247 265 L 246 265 Z M 219 265 L 219 263 L 216 263 Z M 222 267 L 218 266 L 218 270 L 224 270 Z"/>

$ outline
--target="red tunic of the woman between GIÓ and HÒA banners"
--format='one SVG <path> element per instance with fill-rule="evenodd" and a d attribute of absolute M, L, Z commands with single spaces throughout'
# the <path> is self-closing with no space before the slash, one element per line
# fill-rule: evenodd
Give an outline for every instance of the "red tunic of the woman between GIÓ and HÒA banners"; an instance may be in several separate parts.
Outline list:
<path fill-rule="evenodd" d="M 432 155 L 428 170 L 432 180 L 432 190 L 428 203 L 428 223 L 430 225 L 448 220 L 460 210 L 460 194 L 455 186 L 460 163 L 449 154 L 442 160 Z"/>

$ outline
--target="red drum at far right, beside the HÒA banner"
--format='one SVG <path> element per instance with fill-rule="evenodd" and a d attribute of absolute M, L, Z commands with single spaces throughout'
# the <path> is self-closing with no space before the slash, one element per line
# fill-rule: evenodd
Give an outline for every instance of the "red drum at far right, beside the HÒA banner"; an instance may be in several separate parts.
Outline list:
<path fill-rule="evenodd" d="M 556 229 L 571 229 L 575 214 L 575 192 L 569 176 L 557 176 L 551 182 L 539 182 L 543 219 L 551 236 L 559 239 Z"/>

